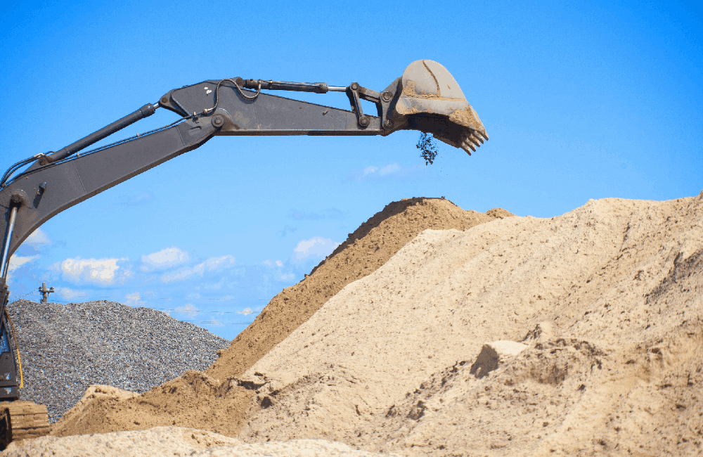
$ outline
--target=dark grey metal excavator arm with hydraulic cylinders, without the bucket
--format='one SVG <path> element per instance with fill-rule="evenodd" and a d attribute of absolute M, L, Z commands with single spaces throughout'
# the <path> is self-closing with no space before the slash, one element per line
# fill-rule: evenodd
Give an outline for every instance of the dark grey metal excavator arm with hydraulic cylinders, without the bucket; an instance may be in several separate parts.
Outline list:
<path fill-rule="evenodd" d="M 397 82 L 394 84 L 397 86 Z M 303 86 L 300 90 L 309 90 L 309 87 Z M 389 104 L 385 103 L 386 109 Z M 0 237 L 4 238 L 4 243 L 0 245 L 0 252 L 6 247 L 5 259 L 11 257 L 30 233 L 56 214 L 198 148 L 215 135 L 387 135 L 391 132 L 388 127 L 382 127 L 380 117 L 363 115 L 361 119 L 365 118 L 366 122 L 359 122 L 359 112 L 269 94 L 257 95 L 236 87 L 232 80 L 205 81 L 174 89 L 160 99 L 159 105 L 183 115 L 183 121 L 115 146 L 71 157 L 112 132 L 150 115 L 153 105 L 146 105 L 58 153 L 41 157 L 27 172 L 2 188 Z M 14 224 L 8 233 L 13 208 Z M 2 266 L 6 267 L 0 265 L 0 271 Z"/>

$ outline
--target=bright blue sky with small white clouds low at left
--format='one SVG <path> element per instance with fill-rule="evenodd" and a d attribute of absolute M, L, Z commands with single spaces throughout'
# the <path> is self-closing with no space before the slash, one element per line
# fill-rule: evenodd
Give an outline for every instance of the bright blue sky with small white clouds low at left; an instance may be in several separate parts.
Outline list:
<path fill-rule="evenodd" d="M 703 188 L 703 14 L 692 2 L 2 8 L 3 169 L 204 79 L 380 90 L 420 58 L 452 73 L 491 137 L 472 157 L 441 144 L 430 166 L 413 131 L 213 139 L 44 224 L 13 259 L 15 298 L 37 300 L 46 281 L 57 302 L 164 309 L 232 338 L 394 200 L 444 195 L 553 217 L 590 198 Z M 292 96 L 348 108 L 343 94 Z M 110 141 L 174 120 L 157 110 Z"/>

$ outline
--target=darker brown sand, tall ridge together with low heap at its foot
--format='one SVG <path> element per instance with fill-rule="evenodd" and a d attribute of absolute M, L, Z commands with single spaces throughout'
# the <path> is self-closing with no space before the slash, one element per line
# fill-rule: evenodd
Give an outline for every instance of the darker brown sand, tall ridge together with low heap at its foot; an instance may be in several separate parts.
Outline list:
<path fill-rule="evenodd" d="M 465 211 L 449 200 L 393 202 L 362 224 L 303 281 L 280 292 L 205 373 L 185 375 L 134 397 L 118 390 L 89 391 L 52 427 L 52 435 L 144 430 L 159 425 L 202 428 L 228 436 L 240 431 L 250 408 L 251 385 L 231 380 L 307 321 L 345 285 L 368 276 L 425 228 L 465 230 L 512 216 L 501 209 Z M 105 389 L 103 389 L 105 390 Z"/>

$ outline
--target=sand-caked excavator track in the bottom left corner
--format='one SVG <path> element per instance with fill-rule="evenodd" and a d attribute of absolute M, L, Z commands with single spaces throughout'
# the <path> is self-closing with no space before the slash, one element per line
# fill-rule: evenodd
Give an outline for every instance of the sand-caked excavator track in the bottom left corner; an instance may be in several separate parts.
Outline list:
<path fill-rule="evenodd" d="M 49 434 L 49 411 L 32 401 L 0 402 L 0 450 L 13 441 Z"/>

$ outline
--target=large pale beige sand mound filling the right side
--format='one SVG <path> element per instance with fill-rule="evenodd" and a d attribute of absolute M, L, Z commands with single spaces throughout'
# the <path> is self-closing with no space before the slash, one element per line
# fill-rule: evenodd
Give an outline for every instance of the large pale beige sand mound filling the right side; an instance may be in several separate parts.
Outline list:
<path fill-rule="evenodd" d="M 702 451 L 703 193 L 426 230 L 242 376 L 247 441 L 408 455 Z M 528 348 L 471 373 L 485 342 Z"/>

